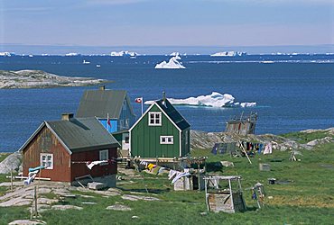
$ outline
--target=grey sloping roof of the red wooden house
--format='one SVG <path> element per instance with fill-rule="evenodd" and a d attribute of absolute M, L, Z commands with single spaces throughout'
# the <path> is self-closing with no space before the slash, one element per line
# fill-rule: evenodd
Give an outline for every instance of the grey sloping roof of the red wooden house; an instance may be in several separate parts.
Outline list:
<path fill-rule="evenodd" d="M 109 134 L 96 118 L 73 118 L 70 121 L 45 121 L 45 124 L 71 152 L 93 148 L 119 147 L 116 139 Z"/>

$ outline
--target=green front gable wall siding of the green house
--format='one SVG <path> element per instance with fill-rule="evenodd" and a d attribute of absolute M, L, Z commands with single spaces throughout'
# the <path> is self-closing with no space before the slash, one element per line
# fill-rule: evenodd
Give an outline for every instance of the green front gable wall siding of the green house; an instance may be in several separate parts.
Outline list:
<path fill-rule="evenodd" d="M 161 112 L 153 105 L 150 112 Z M 180 131 L 162 112 L 162 126 L 149 126 L 148 114 L 131 130 L 131 154 L 140 157 L 179 157 Z M 173 144 L 160 144 L 160 136 L 173 136 Z"/>

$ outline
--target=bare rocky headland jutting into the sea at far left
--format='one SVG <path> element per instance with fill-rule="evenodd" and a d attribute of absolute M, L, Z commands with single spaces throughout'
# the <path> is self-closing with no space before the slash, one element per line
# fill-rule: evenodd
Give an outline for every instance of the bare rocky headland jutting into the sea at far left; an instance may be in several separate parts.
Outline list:
<path fill-rule="evenodd" d="M 57 86 L 99 85 L 109 81 L 91 77 L 58 76 L 42 70 L 0 70 L 1 88 L 46 88 Z"/>

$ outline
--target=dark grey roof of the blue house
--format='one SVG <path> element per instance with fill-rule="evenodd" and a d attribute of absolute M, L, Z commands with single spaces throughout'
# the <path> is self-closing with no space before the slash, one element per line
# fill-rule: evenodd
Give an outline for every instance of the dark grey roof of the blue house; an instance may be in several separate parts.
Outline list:
<path fill-rule="evenodd" d="M 81 97 L 77 117 L 94 117 L 118 119 L 126 98 L 126 91 L 122 90 L 87 90 Z M 131 103 L 130 110 L 133 114 Z"/>

